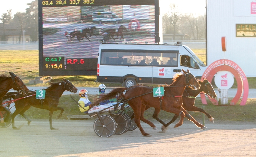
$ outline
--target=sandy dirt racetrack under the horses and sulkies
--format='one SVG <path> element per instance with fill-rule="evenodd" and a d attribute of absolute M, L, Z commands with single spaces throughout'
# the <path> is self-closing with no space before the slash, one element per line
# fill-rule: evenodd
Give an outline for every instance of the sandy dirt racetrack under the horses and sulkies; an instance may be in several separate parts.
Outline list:
<path fill-rule="evenodd" d="M 160 133 L 142 122 L 152 137 L 136 129 L 108 138 L 93 131 L 94 120 L 53 120 L 59 130 L 50 130 L 48 120 L 34 120 L 30 126 L 16 118 L 20 130 L 0 128 L 1 157 L 177 157 L 177 156 L 256 156 L 256 123 L 206 122 L 200 130 L 189 121 L 178 128 L 169 126 Z"/>

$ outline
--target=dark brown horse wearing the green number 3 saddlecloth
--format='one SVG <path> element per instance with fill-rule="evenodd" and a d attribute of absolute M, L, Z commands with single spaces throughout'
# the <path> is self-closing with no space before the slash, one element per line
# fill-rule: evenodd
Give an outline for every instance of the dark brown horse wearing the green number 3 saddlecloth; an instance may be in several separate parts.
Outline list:
<path fill-rule="evenodd" d="M 39 100 L 36 99 L 35 97 L 35 91 L 30 92 L 27 96 L 32 95 L 31 97 L 26 97 L 24 99 L 20 99 L 15 101 L 15 108 L 16 110 L 12 114 L 12 127 L 13 129 L 19 129 L 15 126 L 14 123 L 14 118 L 20 114 L 22 115 L 27 121 L 28 125 L 30 124 L 31 120 L 24 115 L 24 112 L 30 108 L 30 106 L 34 106 L 35 108 L 41 108 L 45 110 L 49 110 L 49 122 L 50 122 L 50 129 L 51 130 L 56 130 L 56 128 L 52 127 L 52 114 L 54 111 L 61 110 L 59 113 L 58 117 L 62 116 L 62 113 L 64 111 L 63 108 L 58 107 L 59 103 L 59 98 L 63 94 L 64 91 L 70 91 L 72 93 L 77 92 L 77 88 L 69 81 L 66 79 L 63 79 L 63 82 L 58 82 L 58 83 L 49 83 L 50 86 L 45 89 L 45 99 Z M 15 99 L 21 98 L 21 95 L 16 95 Z M 11 97 L 9 97 L 11 98 Z"/>

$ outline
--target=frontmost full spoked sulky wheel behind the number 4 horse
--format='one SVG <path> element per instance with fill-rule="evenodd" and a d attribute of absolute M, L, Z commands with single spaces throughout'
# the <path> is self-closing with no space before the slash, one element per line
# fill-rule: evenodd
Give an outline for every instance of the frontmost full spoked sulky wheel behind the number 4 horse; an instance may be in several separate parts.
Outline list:
<path fill-rule="evenodd" d="M 101 124 L 100 119 L 102 120 L 104 125 Z M 95 133 L 99 137 L 110 137 L 111 135 L 113 135 L 116 130 L 115 119 L 113 119 L 113 117 L 111 117 L 110 115 L 100 115 L 100 119 L 96 118 L 93 124 Z"/>

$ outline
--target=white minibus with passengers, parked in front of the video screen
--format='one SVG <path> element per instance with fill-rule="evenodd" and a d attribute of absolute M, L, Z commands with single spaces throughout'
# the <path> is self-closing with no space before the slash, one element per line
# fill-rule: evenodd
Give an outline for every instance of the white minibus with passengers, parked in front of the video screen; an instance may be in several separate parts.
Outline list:
<path fill-rule="evenodd" d="M 98 82 L 171 84 L 184 69 L 201 78 L 206 65 L 184 45 L 105 44 L 98 51 Z"/>

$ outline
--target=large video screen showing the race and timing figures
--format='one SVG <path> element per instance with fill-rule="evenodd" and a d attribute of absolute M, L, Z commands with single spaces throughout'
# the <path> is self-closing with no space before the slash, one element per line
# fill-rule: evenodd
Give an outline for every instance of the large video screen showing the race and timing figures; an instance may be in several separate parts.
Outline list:
<path fill-rule="evenodd" d="M 159 42 L 158 0 L 39 0 L 39 75 L 96 75 L 100 42 Z"/>

